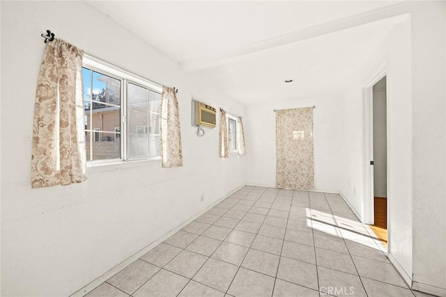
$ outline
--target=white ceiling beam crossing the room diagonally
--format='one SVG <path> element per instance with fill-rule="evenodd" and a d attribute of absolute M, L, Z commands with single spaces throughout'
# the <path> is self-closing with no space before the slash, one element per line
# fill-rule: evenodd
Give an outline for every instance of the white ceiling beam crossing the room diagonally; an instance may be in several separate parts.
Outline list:
<path fill-rule="evenodd" d="M 361 26 L 371 22 L 377 22 L 382 19 L 395 18 L 395 23 L 403 22 L 408 13 L 410 13 L 410 1 L 397 3 L 396 5 L 387 8 L 380 8 L 372 10 L 353 17 L 346 17 L 333 22 L 328 22 L 318 26 L 309 27 L 299 31 L 287 33 L 285 35 L 277 36 L 260 42 L 254 42 L 251 45 L 231 49 L 216 56 L 208 56 L 203 58 L 196 58 L 179 63 L 180 70 L 195 71 L 204 70 L 210 67 L 233 63 L 247 58 L 249 54 L 254 54 L 259 51 L 265 51 L 283 45 L 289 45 L 293 42 L 315 38 L 321 35 L 334 33 L 337 31 Z"/>

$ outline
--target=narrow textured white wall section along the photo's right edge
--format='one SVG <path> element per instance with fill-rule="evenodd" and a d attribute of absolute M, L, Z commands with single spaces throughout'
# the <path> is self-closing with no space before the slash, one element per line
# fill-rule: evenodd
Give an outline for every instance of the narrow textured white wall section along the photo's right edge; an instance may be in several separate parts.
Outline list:
<path fill-rule="evenodd" d="M 412 22 L 413 280 L 446 296 L 446 2 L 416 3 Z"/>

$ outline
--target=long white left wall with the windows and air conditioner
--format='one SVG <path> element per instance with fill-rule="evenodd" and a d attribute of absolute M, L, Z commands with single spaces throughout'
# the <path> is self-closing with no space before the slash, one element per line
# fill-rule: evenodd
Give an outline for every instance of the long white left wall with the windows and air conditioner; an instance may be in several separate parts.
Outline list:
<path fill-rule="evenodd" d="M 179 89 L 183 168 L 163 169 L 159 161 L 91 167 L 83 184 L 31 190 L 46 29 L 91 56 Z M 245 115 L 241 104 L 179 72 L 177 63 L 84 1 L 1 1 L 2 296 L 68 296 L 245 184 L 245 157 L 220 159 L 217 129 L 196 136 L 191 94 Z"/>

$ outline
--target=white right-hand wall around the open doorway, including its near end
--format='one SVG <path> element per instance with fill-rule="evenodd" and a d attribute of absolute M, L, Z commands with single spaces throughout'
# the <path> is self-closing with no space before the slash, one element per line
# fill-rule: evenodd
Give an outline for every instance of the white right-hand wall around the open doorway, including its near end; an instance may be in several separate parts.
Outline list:
<path fill-rule="evenodd" d="M 352 77 L 342 124 L 341 192 L 364 216 L 362 87 L 387 62 L 389 253 L 415 289 L 440 296 L 446 296 L 445 5 L 404 6 L 410 19 Z"/>

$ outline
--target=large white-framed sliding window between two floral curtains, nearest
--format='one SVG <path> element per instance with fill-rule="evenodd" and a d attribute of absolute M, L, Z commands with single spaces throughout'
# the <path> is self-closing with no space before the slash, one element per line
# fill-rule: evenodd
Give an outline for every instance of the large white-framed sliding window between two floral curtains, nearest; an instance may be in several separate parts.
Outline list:
<path fill-rule="evenodd" d="M 162 87 L 84 57 L 87 161 L 159 159 Z"/>

